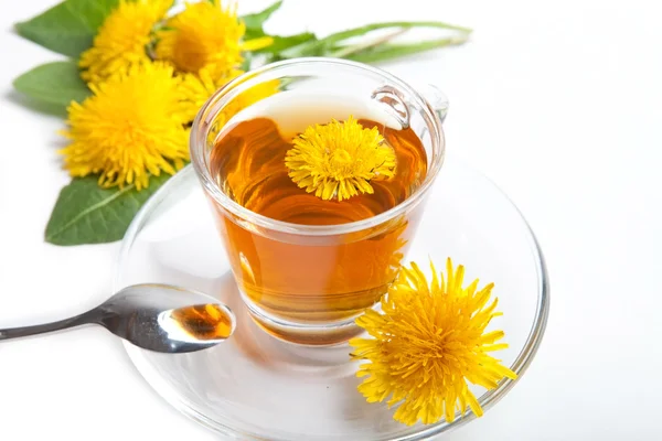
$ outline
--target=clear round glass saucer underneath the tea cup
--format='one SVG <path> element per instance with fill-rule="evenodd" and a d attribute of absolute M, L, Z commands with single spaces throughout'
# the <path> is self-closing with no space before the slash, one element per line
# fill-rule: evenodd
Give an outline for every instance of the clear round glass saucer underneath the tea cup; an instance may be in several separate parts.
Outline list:
<path fill-rule="evenodd" d="M 267 335 L 249 319 L 229 272 L 211 211 L 193 170 L 172 178 L 143 206 L 124 239 L 115 291 L 134 283 L 180 284 L 216 295 L 237 315 L 235 334 L 202 352 L 156 354 L 126 344 L 145 379 L 199 423 L 241 440 L 423 440 L 473 419 L 407 427 L 394 409 L 367 404 L 356 391 L 350 346 L 305 347 Z M 499 353 L 522 374 L 541 343 L 548 308 L 543 256 L 517 208 L 488 179 L 448 159 L 429 195 L 406 261 L 444 268 L 447 257 L 466 279 L 493 281 L 505 332 Z M 482 284 L 482 283 L 481 283 Z M 474 389 L 483 409 L 516 381 Z"/>

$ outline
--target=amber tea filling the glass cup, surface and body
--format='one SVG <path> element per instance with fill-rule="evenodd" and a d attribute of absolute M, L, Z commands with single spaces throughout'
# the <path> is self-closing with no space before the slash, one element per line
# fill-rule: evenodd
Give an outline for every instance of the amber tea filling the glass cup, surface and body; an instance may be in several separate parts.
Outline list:
<path fill-rule="evenodd" d="M 289 224 L 343 225 L 397 206 L 424 181 L 426 151 L 410 128 L 402 128 L 387 116 L 361 106 L 329 105 L 323 100 L 288 103 L 231 121 L 213 147 L 210 171 L 237 204 Z M 292 181 L 286 153 L 292 148 L 292 139 L 308 126 L 327 123 L 331 117 L 340 121 L 352 110 L 361 126 L 377 128 L 384 143 L 393 149 L 394 175 L 372 181 L 373 194 L 325 201 Z M 258 322 L 260 315 L 291 323 L 351 320 L 387 291 L 417 224 L 415 209 L 359 233 L 292 241 L 266 237 L 217 208 L 217 224 L 233 271 Z"/>

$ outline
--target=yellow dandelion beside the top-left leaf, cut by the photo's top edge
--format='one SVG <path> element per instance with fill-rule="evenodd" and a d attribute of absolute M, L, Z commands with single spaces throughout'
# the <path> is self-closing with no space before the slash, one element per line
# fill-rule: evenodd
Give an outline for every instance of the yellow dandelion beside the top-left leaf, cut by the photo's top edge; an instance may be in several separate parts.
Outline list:
<path fill-rule="evenodd" d="M 172 0 L 120 0 L 104 21 L 93 46 L 81 55 L 81 76 L 98 83 L 130 66 L 150 61 L 147 46 L 154 25 L 161 21 Z"/>

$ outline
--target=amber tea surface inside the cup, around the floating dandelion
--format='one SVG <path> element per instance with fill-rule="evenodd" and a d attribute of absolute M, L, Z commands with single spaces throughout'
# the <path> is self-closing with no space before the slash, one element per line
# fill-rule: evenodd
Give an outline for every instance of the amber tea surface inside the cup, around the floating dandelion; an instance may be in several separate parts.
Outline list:
<path fill-rule="evenodd" d="M 273 219 L 334 225 L 375 216 L 405 201 L 420 185 L 427 158 L 412 129 L 384 128 L 367 119 L 359 122 L 365 128 L 376 127 L 396 155 L 395 176 L 372 180 L 374 194 L 342 202 L 323 201 L 297 186 L 285 165 L 292 137 L 281 135 L 276 121 L 269 118 L 242 121 L 227 131 L 212 151 L 212 174 L 235 202 Z"/>

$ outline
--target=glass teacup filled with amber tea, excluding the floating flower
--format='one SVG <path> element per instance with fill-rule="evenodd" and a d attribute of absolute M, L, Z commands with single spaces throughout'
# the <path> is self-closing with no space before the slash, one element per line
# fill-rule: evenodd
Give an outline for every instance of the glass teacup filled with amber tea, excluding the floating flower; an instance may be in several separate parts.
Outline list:
<path fill-rule="evenodd" d="M 444 162 L 448 106 L 436 88 L 426 89 L 428 99 L 360 63 L 298 58 L 237 77 L 200 110 L 191 160 L 243 300 L 268 333 L 307 345 L 341 343 L 360 333 L 355 318 L 378 305 Z M 356 220 L 346 202 L 318 204 L 285 166 L 289 141 L 306 126 L 349 115 L 421 153 L 415 185 L 375 183 L 384 196 L 365 196 L 365 206 L 381 205 Z M 398 155 L 396 171 L 407 158 Z"/>

